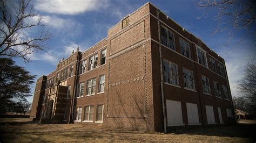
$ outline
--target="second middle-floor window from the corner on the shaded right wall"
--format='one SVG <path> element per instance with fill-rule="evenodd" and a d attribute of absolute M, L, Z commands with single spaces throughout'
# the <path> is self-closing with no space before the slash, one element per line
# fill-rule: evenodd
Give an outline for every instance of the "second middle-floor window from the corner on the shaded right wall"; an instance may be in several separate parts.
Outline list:
<path fill-rule="evenodd" d="M 183 68 L 184 87 L 195 90 L 193 71 Z"/>

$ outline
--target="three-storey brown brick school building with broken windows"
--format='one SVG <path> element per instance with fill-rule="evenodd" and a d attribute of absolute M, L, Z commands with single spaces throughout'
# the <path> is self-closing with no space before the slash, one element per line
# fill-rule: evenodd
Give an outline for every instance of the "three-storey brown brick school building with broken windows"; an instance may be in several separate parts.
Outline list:
<path fill-rule="evenodd" d="M 233 113 L 224 59 L 148 2 L 39 77 L 30 118 L 166 132 Z"/>

